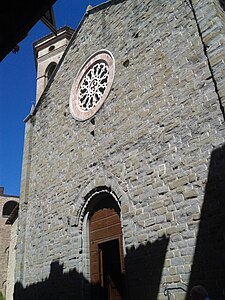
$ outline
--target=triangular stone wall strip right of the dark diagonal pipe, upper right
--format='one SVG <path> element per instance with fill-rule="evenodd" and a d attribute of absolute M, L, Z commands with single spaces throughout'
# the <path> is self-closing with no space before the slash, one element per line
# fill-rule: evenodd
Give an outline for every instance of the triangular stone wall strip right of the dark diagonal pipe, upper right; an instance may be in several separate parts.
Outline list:
<path fill-rule="evenodd" d="M 224 56 L 225 56 L 225 15 L 222 1 L 190 1 L 199 34 L 203 43 L 203 50 L 208 59 L 211 76 L 214 81 L 215 91 L 225 116 L 225 85 L 223 81 Z"/>

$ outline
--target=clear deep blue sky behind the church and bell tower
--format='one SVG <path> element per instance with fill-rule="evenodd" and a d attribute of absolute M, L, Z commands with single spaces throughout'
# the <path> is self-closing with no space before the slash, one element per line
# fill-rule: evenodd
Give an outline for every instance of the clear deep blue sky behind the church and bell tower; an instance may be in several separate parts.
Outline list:
<path fill-rule="evenodd" d="M 57 0 L 53 6 L 57 29 L 76 28 L 87 5 L 101 0 Z M 19 44 L 17 54 L 9 53 L 0 63 L 0 186 L 8 195 L 19 195 L 24 139 L 24 118 L 35 103 L 36 70 L 33 42 L 50 33 L 39 21 Z"/>

